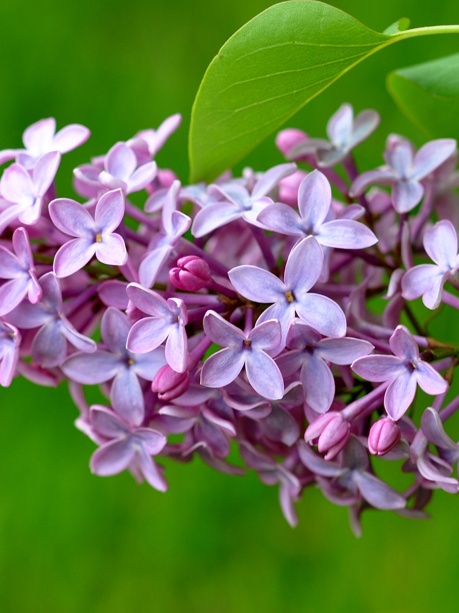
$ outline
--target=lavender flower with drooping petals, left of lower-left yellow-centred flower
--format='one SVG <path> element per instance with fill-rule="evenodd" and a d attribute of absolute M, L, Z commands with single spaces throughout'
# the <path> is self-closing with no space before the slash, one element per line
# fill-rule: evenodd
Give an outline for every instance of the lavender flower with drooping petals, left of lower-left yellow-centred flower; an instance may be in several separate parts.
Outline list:
<path fill-rule="evenodd" d="M 59 280 L 52 272 L 39 279 L 42 299 L 36 304 L 21 302 L 10 311 L 7 319 L 20 329 L 40 327 L 32 342 L 32 360 L 43 368 L 62 364 L 67 355 L 67 341 L 76 349 L 94 352 L 97 345 L 92 338 L 75 330 L 65 317 Z"/>

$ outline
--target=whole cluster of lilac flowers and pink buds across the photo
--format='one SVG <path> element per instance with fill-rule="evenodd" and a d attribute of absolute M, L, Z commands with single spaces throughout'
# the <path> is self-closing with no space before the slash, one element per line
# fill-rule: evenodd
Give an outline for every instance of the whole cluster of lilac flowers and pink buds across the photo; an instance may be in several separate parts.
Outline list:
<path fill-rule="evenodd" d="M 365 508 L 426 517 L 433 489 L 459 490 L 443 425 L 459 397 L 442 408 L 459 348 L 428 337 L 409 301 L 459 309 L 444 289 L 459 289 L 457 143 L 416 151 L 391 134 L 384 166 L 359 174 L 352 150 L 379 116 L 344 104 L 329 140 L 280 132 L 285 163 L 182 186 L 154 161 L 180 123 L 76 168 L 82 204 L 56 197 L 54 177 L 84 126 L 55 134 L 42 120 L 24 149 L 0 152 L 14 160 L 0 180 L 0 384 L 67 379 L 100 476 L 129 470 L 165 491 L 157 460 L 197 454 L 278 484 L 292 526 L 312 484 L 349 508 L 357 535 Z M 143 190 L 141 210 L 129 196 Z M 367 308 L 376 296 L 381 315 Z M 106 405 L 88 406 L 94 385 Z M 420 427 L 417 386 L 434 397 Z M 372 455 L 405 460 L 405 492 Z"/>

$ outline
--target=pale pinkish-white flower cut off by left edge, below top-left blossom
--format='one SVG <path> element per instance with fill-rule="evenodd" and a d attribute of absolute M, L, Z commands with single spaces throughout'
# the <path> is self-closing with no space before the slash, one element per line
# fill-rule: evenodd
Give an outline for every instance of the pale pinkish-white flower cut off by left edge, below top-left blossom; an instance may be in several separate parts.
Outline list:
<path fill-rule="evenodd" d="M 43 208 L 43 197 L 61 162 L 61 154 L 51 151 L 42 155 L 35 163 L 31 173 L 21 164 L 11 164 L 0 179 L 0 194 L 9 206 L 0 213 L 0 232 L 18 218 L 22 224 L 36 224 Z"/>

